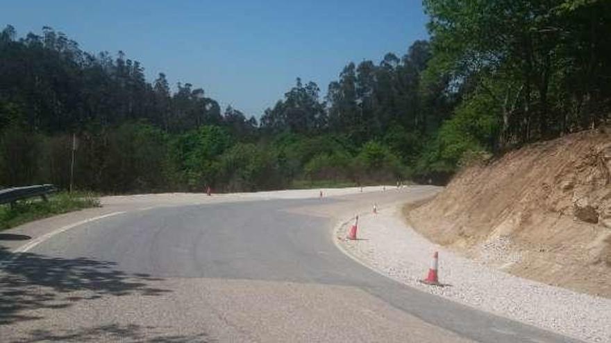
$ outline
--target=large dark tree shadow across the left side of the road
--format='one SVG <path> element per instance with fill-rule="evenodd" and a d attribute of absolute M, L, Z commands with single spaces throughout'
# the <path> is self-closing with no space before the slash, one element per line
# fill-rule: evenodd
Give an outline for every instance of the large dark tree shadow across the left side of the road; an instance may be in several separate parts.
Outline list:
<path fill-rule="evenodd" d="M 14 254 L 0 247 L 0 325 L 41 319 L 26 311 L 67 308 L 87 299 L 140 294 L 158 296 L 169 290 L 150 285 L 147 274 L 126 274 L 115 263 L 90 258 Z M 75 295 L 73 292 L 79 292 Z M 86 295 L 82 295 L 86 294 Z"/>

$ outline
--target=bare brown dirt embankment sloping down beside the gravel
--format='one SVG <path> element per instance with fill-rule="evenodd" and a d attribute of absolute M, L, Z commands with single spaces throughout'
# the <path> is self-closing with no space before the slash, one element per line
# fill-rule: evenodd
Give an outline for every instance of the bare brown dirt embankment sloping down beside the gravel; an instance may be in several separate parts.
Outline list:
<path fill-rule="evenodd" d="M 611 134 L 581 132 L 457 175 L 405 209 L 421 234 L 511 274 L 611 298 Z"/>

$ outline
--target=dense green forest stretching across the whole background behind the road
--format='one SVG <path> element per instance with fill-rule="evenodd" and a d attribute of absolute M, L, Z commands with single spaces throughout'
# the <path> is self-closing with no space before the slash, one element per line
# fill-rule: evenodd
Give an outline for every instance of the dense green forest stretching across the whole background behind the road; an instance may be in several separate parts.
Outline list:
<path fill-rule="evenodd" d="M 67 188 L 73 135 L 75 187 L 103 193 L 442 183 L 464 164 L 610 119 L 611 1 L 423 4 L 427 41 L 347 64 L 326 95 L 296 78 L 248 116 L 187 82 L 172 91 L 163 73 L 149 82 L 121 51 L 8 25 L 0 185 Z"/>

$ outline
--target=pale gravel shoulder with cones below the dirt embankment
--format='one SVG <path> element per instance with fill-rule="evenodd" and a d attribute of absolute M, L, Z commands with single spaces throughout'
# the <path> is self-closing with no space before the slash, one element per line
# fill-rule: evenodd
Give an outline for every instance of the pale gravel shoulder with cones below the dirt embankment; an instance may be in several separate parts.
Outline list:
<path fill-rule="evenodd" d="M 562 335 L 611 342 L 610 299 L 521 279 L 458 256 L 409 227 L 401 216 L 401 205 L 378 207 L 377 215 L 362 213 L 359 240 L 345 239 L 352 222 L 352 218 L 344 218 L 335 227 L 337 246 L 396 281 Z M 426 276 L 435 251 L 440 253 L 438 273 L 446 285 L 442 288 L 419 282 Z"/>

